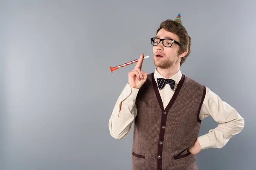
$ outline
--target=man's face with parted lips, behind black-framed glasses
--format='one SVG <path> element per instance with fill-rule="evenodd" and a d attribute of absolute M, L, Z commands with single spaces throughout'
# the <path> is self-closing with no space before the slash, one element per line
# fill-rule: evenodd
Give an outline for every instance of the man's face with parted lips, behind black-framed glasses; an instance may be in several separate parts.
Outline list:
<path fill-rule="evenodd" d="M 166 31 L 165 29 L 161 29 L 156 37 L 160 39 L 169 38 L 180 42 L 180 38 L 176 34 Z M 179 50 L 180 46 L 175 42 L 173 42 L 171 47 L 165 47 L 161 41 L 157 46 L 153 46 L 154 65 L 163 69 L 172 67 L 179 59 L 181 59 L 178 55 Z M 162 57 L 158 57 L 158 55 L 161 55 Z"/>

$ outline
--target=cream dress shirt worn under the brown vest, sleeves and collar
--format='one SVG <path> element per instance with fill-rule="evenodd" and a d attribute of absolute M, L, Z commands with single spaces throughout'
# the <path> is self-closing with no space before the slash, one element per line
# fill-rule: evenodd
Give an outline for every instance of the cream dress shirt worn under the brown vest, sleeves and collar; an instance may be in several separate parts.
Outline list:
<path fill-rule="evenodd" d="M 169 85 L 166 85 L 161 90 L 158 89 L 164 108 L 172 99 L 181 76 L 182 74 L 179 70 L 169 78 L 175 80 L 174 91 Z M 154 71 L 154 78 L 156 82 L 157 78 L 164 78 L 157 72 L 157 68 Z M 123 139 L 131 131 L 131 125 L 137 116 L 135 100 L 138 91 L 139 89 L 131 88 L 127 83 L 117 99 L 108 125 L 113 138 Z M 202 149 L 223 147 L 232 136 L 238 134 L 244 127 L 244 118 L 233 107 L 222 101 L 218 95 L 206 87 L 206 96 L 199 117 L 203 120 L 208 116 L 212 116 L 218 126 L 209 130 L 209 133 L 198 137 L 198 142 Z"/>

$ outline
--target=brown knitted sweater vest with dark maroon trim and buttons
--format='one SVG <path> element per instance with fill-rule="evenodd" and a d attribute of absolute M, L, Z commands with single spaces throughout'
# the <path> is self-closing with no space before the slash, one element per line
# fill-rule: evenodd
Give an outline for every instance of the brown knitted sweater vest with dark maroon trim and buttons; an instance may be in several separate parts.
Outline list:
<path fill-rule="evenodd" d="M 148 74 L 136 98 L 133 170 L 197 170 L 196 157 L 188 148 L 198 137 L 205 94 L 204 85 L 182 75 L 171 101 L 163 109 L 154 73 Z"/>

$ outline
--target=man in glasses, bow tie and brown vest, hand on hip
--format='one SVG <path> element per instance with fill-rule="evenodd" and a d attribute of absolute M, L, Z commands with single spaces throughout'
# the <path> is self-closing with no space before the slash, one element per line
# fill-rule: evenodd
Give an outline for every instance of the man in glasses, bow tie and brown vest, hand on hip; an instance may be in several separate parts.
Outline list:
<path fill-rule="evenodd" d="M 141 54 L 109 119 L 111 136 L 123 139 L 134 124 L 133 170 L 197 170 L 195 155 L 223 147 L 243 129 L 244 119 L 209 88 L 181 73 L 191 38 L 180 14 L 160 24 L 151 44 L 156 69 L 143 72 Z M 207 116 L 219 125 L 198 137 Z"/>

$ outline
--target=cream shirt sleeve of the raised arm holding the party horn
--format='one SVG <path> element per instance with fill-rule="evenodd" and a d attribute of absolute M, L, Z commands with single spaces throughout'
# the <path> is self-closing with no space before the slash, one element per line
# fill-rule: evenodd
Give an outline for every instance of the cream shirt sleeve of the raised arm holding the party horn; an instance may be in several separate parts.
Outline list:
<path fill-rule="evenodd" d="M 139 89 L 131 88 L 127 83 L 116 101 L 109 119 L 108 127 L 114 139 L 123 139 L 131 131 L 131 125 L 137 116 L 135 99 Z"/>

